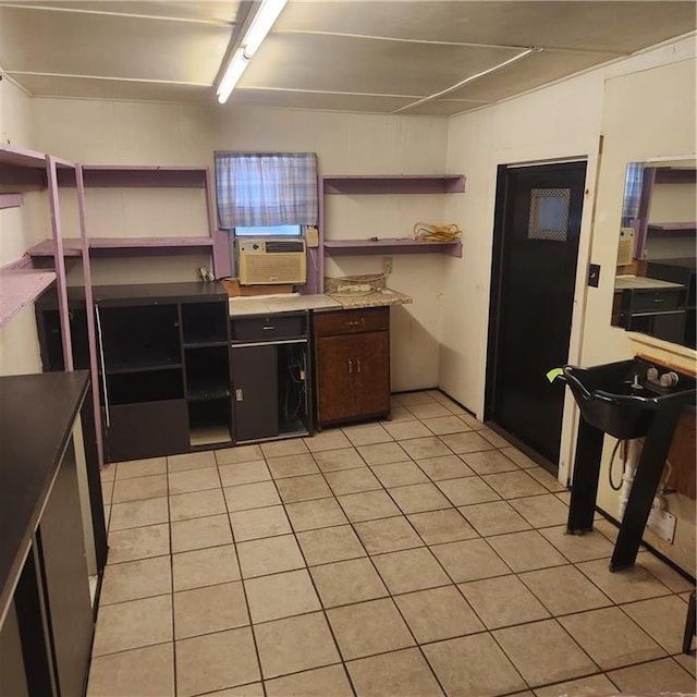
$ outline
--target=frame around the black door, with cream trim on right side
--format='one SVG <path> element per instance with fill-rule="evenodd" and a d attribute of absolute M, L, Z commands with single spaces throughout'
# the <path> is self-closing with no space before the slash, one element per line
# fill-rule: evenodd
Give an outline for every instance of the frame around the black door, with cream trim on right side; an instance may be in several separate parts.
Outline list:
<path fill-rule="evenodd" d="M 484 420 L 490 423 L 493 409 L 493 392 L 496 380 L 497 344 L 496 331 L 498 329 L 497 307 L 501 295 L 501 262 L 503 254 L 503 224 L 505 205 L 505 176 L 509 170 L 543 167 L 546 164 L 563 164 L 565 162 L 585 162 L 586 182 L 584 191 L 584 205 L 580 217 L 580 230 L 578 237 L 578 253 L 576 259 L 576 278 L 574 282 L 574 301 L 572 309 L 572 329 L 568 341 L 568 363 L 578 365 L 582 358 L 584 345 L 585 314 L 588 294 L 587 269 L 590 264 L 590 249 L 592 242 L 592 227 L 596 213 L 596 192 L 598 188 L 598 174 L 602 154 L 602 136 L 598 140 L 597 154 L 548 158 L 543 160 L 529 160 L 521 162 L 499 163 L 496 175 L 496 194 L 493 209 L 493 231 L 491 248 L 491 283 L 489 293 L 489 308 L 487 315 L 487 345 L 486 368 L 484 386 Z M 614 277 L 614 269 L 606 271 Z M 608 310 L 610 313 L 610 310 Z M 610 314 L 608 314 L 608 322 Z M 576 431 L 579 412 L 570 390 L 565 391 L 562 416 L 562 437 L 559 454 L 558 480 L 571 486 L 573 475 L 574 455 L 576 450 Z M 496 430 L 496 425 L 493 425 Z M 504 433 L 511 438 L 509 433 Z M 533 460 L 539 461 L 539 455 L 522 443 L 515 443 L 519 450 Z"/>

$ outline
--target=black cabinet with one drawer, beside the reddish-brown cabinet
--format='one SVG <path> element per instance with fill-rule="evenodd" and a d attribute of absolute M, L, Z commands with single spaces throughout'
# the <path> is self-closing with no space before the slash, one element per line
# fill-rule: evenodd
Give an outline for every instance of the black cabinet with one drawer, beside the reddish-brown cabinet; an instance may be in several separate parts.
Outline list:
<path fill-rule="evenodd" d="M 307 311 L 231 321 L 236 442 L 313 435 L 308 329 Z"/>

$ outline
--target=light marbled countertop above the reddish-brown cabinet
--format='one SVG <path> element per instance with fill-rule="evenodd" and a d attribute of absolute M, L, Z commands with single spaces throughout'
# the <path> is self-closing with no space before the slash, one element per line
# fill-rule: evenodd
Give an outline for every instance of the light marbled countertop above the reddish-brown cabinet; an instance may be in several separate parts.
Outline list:
<path fill-rule="evenodd" d="M 244 315 L 270 315 L 294 310 L 354 309 L 360 307 L 381 307 L 383 305 L 406 305 L 412 302 L 408 295 L 391 289 L 363 293 L 360 295 L 288 295 L 288 296 L 247 296 L 231 297 L 228 302 L 231 317 Z"/>

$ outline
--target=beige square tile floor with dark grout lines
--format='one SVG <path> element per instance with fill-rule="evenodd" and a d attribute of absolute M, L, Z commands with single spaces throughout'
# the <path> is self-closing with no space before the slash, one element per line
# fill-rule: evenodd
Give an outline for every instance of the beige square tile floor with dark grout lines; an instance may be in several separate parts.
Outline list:
<path fill-rule="evenodd" d="M 391 421 L 111 465 L 88 695 L 694 693 L 690 584 L 437 391 Z"/>

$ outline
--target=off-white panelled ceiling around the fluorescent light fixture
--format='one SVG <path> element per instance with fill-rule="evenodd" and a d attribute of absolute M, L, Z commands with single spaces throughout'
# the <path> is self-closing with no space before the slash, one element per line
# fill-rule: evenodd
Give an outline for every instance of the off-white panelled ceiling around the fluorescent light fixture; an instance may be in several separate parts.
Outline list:
<path fill-rule="evenodd" d="M 216 105 L 250 9 L 0 1 L 0 71 L 35 96 Z M 693 0 L 290 0 L 228 105 L 452 115 L 696 28 Z"/>

